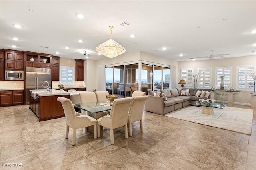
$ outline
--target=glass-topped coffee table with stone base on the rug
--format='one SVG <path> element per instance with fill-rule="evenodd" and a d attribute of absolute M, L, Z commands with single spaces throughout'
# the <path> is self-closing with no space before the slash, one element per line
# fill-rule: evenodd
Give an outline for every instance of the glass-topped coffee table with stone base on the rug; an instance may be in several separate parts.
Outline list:
<path fill-rule="evenodd" d="M 189 105 L 203 107 L 202 113 L 206 115 L 213 115 L 214 114 L 213 108 L 223 109 L 226 106 L 226 104 L 222 104 L 222 103 L 203 103 L 200 101 L 189 103 Z"/>

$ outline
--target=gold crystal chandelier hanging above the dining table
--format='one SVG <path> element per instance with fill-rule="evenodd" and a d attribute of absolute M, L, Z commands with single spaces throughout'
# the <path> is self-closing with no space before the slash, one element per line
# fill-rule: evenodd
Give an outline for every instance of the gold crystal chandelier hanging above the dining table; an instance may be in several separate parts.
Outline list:
<path fill-rule="evenodd" d="M 125 53 L 125 48 L 112 39 L 112 28 L 110 28 L 110 39 L 96 47 L 96 51 L 110 59 Z"/>

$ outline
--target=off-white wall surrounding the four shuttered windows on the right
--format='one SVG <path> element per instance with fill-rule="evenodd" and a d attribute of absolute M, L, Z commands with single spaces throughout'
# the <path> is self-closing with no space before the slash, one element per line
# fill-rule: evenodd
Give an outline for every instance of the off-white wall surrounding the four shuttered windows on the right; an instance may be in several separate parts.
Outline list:
<path fill-rule="evenodd" d="M 242 65 L 256 65 L 256 55 L 244 56 L 244 57 L 234 57 L 234 58 L 223 58 L 223 59 L 207 59 L 200 61 L 180 61 L 178 63 L 178 76 L 180 79 L 180 69 L 182 68 L 194 68 L 194 73 L 197 73 L 198 68 L 212 68 L 212 86 L 215 86 L 215 68 L 216 67 L 232 67 L 232 87 L 236 89 L 236 67 Z M 234 93 L 234 103 L 248 105 L 250 103 L 251 97 L 248 95 L 252 91 L 240 91 L 239 93 Z M 217 99 L 226 101 L 226 92 L 218 92 Z"/>

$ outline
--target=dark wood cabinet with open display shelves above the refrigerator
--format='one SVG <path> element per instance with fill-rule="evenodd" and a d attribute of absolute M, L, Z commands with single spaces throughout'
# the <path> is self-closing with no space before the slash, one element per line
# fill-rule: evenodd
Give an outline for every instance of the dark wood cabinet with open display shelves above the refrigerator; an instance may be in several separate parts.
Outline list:
<path fill-rule="evenodd" d="M 26 67 L 52 68 L 52 55 L 24 51 Z"/>

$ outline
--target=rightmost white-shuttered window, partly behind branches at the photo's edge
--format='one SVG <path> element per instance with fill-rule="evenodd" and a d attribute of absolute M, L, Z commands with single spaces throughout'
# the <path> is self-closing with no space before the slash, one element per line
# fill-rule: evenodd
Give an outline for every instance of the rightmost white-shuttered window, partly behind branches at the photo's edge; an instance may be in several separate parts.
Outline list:
<path fill-rule="evenodd" d="M 255 66 L 238 66 L 236 69 L 237 87 L 238 90 L 252 91 L 254 87 L 254 80 L 251 73 L 254 73 Z"/>

